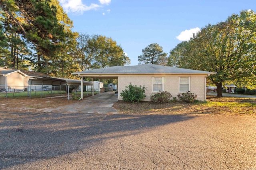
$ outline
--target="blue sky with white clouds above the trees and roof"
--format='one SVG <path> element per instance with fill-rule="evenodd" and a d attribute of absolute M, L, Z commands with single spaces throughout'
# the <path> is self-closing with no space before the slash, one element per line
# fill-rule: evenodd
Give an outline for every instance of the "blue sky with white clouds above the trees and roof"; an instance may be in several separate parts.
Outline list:
<path fill-rule="evenodd" d="M 59 0 L 73 31 L 111 37 L 138 65 L 152 43 L 168 53 L 208 24 L 241 10 L 256 11 L 255 0 Z"/>

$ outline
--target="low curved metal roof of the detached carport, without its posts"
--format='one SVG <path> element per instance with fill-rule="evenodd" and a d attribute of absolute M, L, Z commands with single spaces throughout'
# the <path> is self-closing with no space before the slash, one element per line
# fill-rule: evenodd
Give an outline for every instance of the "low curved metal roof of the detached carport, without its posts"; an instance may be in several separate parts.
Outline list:
<path fill-rule="evenodd" d="M 92 82 L 83 81 L 84 86 L 91 86 Z M 28 84 L 32 85 L 73 85 L 79 86 L 81 85 L 81 80 L 73 80 L 73 79 L 66 79 L 66 78 L 56 78 L 56 77 L 43 77 L 43 78 L 35 78 L 30 79 Z"/>

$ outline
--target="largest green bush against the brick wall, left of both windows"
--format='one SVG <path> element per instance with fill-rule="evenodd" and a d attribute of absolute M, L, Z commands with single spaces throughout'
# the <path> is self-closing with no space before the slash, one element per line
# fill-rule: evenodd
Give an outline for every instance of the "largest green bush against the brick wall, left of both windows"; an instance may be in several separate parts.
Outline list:
<path fill-rule="evenodd" d="M 139 103 L 141 100 L 146 98 L 145 89 L 145 86 L 137 87 L 136 85 L 133 86 L 130 83 L 128 86 L 126 86 L 126 89 L 120 93 L 120 96 L 122 97 L 123 101 Z"/>

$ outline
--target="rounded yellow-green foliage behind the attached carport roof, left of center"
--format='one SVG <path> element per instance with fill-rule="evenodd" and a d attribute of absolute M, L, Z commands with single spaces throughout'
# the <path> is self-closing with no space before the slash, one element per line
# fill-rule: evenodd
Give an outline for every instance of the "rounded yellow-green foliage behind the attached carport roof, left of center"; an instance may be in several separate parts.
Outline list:
<path fill-rule="evenodd" d="M 81 33 L 76 41 L 76 71 L 130 64 L 130 59 L 124 55 L 122 47 L 112 38 Z"/>

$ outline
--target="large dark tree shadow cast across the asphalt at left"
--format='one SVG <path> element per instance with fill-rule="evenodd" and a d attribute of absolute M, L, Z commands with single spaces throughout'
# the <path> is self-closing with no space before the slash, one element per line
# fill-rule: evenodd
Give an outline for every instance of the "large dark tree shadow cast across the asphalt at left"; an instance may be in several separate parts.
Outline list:
<path fill-rule="evenodd" d="M 105 139 L 186 121 L 185 115 L 0 112 L 0 169 L 92 147 Z"/>

